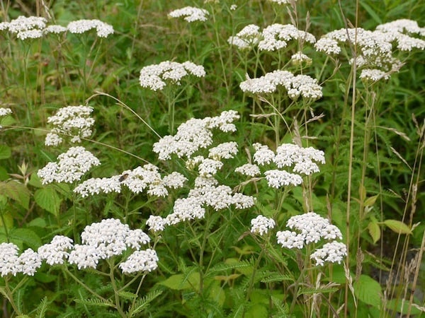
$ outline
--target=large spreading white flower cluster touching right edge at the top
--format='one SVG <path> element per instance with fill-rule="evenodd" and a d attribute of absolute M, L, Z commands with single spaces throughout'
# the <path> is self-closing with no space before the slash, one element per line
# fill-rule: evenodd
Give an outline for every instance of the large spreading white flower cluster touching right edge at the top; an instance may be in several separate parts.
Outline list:
<path fill-rule="evenodd" d="M 339 54 L 344 45 L 356 45 L 356 64 L 365 68 L 361 78 L 380 81 L 390 78 L 390 74 L 402 66 L 402 62 L 392 56 L 395 48 L 399 51 L 425 49 L 425 40 L 414 35 L 424 37 L 425 28 L 419 28 L 416 21 L 401 19 L 378 25 L 374 31 L 362 28 L 334 30 L 318 40 L 315 48 L 325 54 Z"/>

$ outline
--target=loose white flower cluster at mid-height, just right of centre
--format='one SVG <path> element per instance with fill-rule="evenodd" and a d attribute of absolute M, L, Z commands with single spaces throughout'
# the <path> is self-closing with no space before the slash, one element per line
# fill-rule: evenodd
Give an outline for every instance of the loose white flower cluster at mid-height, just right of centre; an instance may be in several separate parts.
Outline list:
<path fill-rule="evenodd" d="M 234 171 L 251 177 L 260 175 L 258 165 L 274 164 L 278 169 L 270 169 L 264 172 L 269 187 L 279 189 L 289 185 L 302 184 L 301 175 L 311 175 L 319 172 L 317 163 L 325 163 L 324 152 L 313 147 L 302 148 L 293 143 L 283 143 L 276 149 L 276 154 L 261 143 L 254 143 L 254 163 L 237 167 Z M 283 167 L 292 167 L 292 172 L 281 170 Z M 295 172 L 295 173 L 293 173 Z"/>

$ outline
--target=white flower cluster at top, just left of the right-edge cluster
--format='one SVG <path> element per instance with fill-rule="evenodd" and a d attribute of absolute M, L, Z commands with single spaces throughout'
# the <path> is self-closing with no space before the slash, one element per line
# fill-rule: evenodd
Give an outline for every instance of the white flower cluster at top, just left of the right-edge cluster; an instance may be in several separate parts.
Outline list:
<path fill-rule="evenodd" d="M 263 31 L 259 32 L 259 26 L 250 24 L 246 25 L 235 36 L 229 37 L 227 42 L 237 46 L 239 49 L 246 49 L 258 45 L 261 51 L 276 51 L 288 46 L 290 40 L 298 40 L 299 42 L 316 42 L 316 38 L 311 33 L 298 30 L 292 24 L 274 23 L 268 25 Z"/>

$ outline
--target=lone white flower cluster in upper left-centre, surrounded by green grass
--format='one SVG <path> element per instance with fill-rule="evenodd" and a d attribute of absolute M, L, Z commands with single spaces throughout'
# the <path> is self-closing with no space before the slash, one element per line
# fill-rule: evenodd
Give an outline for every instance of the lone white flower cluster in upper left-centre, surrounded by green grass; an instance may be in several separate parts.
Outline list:
<path fill-rule="evenodd" d="M 141 69 L 139 81 L 140 86 L 143 88 L 162 90 L 166 86 L 167 81 L 180 85 L 181 79 L 189 74 L 196 77 L 204 77 L 205 69 L 202 65 L 196 65 L 191 61 L 185 61 L 183 63 L 163 61 Z"/>

